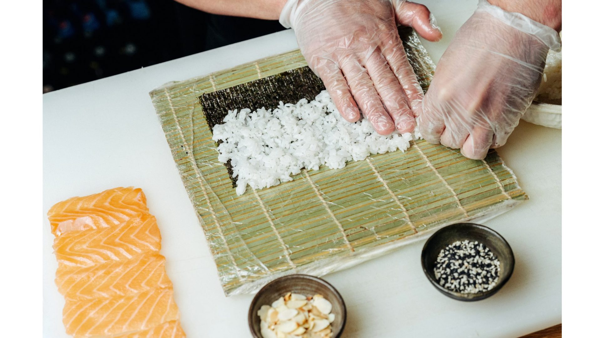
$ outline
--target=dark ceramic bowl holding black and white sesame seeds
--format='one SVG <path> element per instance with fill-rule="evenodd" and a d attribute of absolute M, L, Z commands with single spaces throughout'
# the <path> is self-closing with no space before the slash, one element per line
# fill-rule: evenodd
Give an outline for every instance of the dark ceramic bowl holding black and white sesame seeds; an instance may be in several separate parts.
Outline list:
<path fill-rule="evenodd" d="M 501 263 L 499 281 L 490 290 L 481 293 L 454 292 L 438 284 L 434 276 L 436 257 L 447 245 L 456 241 L 478 241 L 486 245 Z M 424 244 L 421 251 L 421 267 L 430 283 L 448 297 L 460 301 L 479 301 L 494 295 L 507 283 L 513 273 L 515 259 L 509 243 L 495 230 L 474 223 L 457 223 L 444 227 L 434 233 Z"/>

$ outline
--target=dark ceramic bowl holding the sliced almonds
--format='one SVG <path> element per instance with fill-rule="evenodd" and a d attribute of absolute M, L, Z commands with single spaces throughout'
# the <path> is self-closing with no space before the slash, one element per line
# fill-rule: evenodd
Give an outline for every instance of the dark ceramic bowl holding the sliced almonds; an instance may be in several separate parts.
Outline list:
<path fill-rule="evenodd" d="M 332 313 L 335 315 L 332 322 L 332 337 L 339 338 L 346 324 L 346 306 L 340 293 L 334 286 L 327 281 L 310 275 L 287 275 L 270 281 L 263 286 L 255 298 L 252 299 L 251 307 L 248 309 L 248 326 L 251 329 L 252 337 L 263 338 L 261 336 L 261 319 L 257 311 L 263 305 L 271 305 L 279 297 L 288 292 L 300 293 L 305 296 L 313 296 L 316 293 L 322 295 L 326 300 L 332 303 Z"/>

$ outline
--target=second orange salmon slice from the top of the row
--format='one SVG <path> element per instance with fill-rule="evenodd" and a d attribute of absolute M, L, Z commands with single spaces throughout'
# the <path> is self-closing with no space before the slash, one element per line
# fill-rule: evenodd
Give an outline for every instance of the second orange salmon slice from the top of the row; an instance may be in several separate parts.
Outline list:
<path fill-rule="evenodd" d="M 156 218 L 142 214 L 117 226 L 72 231 L 55 238 L 53 245 L 59 268 L 93 266 L 112 260 L 126 260 L 148 251 L 160 250 Z"/>

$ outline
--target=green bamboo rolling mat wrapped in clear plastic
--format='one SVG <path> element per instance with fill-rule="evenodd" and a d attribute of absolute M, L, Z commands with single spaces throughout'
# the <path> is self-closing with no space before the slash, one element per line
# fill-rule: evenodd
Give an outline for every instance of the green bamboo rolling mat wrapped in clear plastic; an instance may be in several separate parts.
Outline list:
<path fill-rule="evenodd" d="M 434 65 L 415 33 L 403 40 L 426 89 Z M 240 99 L 248 85 L 260 83 L 273 87 L 270 96 L 254 88 L 252 100 L 268 102 L 274 93 L 285 96 L 274 75 L 291 74 L 302 84 L 306 66 L 296 50 L 150 93 L 226 295 L 254 292 L 286 274 L 348 268 L 441 226 L 493 217 L 528 198 L 495 151 L 477 161 L 423 140 L 405 152 L 371 155 L 340 170 L 302 170 L 290 182 L 237 196 L 227 167 L 217 160 L 213 123 L 206 117 L 211 114 L 199 97 L 228 88 L 213 106 L 225 112 L 247 108 L 224 97 Z"/>

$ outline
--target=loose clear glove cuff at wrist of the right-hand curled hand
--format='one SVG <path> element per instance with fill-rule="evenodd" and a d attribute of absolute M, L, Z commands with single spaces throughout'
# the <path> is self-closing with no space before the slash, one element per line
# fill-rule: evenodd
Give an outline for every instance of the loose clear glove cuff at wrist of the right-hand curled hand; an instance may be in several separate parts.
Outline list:
<path fill-rule="evenodd" d="M 484 11 L 519 31 L 533 35 L 552 51 L 561 51 L 560 34 L 549 26 L 536 22 L 523 14 L 508 12 L 501 7 L 491 5 L 486 0 L 478 2 L 476 11 Z"/>

